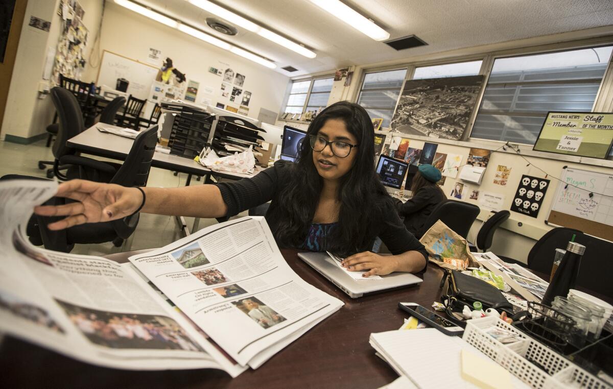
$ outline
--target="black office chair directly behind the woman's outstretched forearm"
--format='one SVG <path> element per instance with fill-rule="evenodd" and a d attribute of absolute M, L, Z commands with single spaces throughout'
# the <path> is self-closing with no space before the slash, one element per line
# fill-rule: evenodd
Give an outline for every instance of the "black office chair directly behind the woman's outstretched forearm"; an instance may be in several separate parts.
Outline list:
<path fill-rule="evenodd" d="M 140 133 L 134 140 L 126 161 L 110 180 L 110 183 L 130 187 L 145 186 L 157 142 L 158 126 L 152 126 Z M 4 178 L 25 177 L 10 176 Z M 62 205 L 69 202 L 72 202 L 72 200 L 53 197 L 45 204 Z M 115 247 L 119 247 L 136 229 L 139 222 L 139 214 L 110 222 L 75 225 L 60 231 L 51 231 L 47 228 L 47 224 L 59 219 L 61 217 L 32 216 L 26 228 L 32 244 L 44 244 L 46 249 L 61 252 L 70 252 L 74 244 L 77 243 L 91 244 L 112 241 Z"/>

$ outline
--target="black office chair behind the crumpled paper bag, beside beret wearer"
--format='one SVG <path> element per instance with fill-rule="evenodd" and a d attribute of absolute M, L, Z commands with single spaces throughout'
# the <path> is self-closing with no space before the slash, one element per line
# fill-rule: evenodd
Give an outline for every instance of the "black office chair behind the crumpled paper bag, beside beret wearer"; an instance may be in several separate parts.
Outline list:
<path fill-rule="evenodd" d="M 416 237 L 421 238 L 428 228 L 432 227 L 436 221 L 442 221 L 447 227 L 454 230 L 455 233 L 466 239 L 471 225 L 479 214 L 479 207 L 466 202 L 457 200 L 445 200 L 432 210 L 428 219 L 424 222 L 423 227 L 418 231 Z M 417 236 L 419 235 L 419 236 Z"/>

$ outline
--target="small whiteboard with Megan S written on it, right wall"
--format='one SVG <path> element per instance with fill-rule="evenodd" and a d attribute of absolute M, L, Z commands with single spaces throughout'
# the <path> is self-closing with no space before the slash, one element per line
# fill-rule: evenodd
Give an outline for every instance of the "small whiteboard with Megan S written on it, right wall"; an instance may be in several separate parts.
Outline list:
<path fill-rule="evenodd" d="M 613 175 L 574 168 L 563 170 L 547 222 L 611 240 Z"/>

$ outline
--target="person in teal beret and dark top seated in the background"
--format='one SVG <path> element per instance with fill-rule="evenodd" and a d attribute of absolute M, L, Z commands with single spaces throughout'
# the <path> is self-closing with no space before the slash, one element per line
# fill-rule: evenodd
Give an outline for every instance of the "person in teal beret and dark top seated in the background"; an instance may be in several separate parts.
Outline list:
<path fill-rule="evenodd" d="M 441 179 L 441 172 L 432 165 L 419 165 L 419 170 L 413 178 L 411 192 L 413 197 L 402 203 L 397 200 L 398 214 L 405 218 L 405 226 L 418 239 L 421 238 L 421 228 L 434 208 L 447 199 L 443 189 L 436 183 Z"/>

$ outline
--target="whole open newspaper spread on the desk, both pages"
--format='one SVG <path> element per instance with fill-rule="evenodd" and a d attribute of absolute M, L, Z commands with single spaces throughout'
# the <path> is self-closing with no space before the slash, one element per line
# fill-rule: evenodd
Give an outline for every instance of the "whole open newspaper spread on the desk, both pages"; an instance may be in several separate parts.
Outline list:
<path fill-rule="evenodd" d="M 200 230 L 128 263 L 32 246 L 53 181 L 0 183 L 0 332 L 122 369 L 238 376 L 340 309 L 287 265 L 263 218 Z"/>

